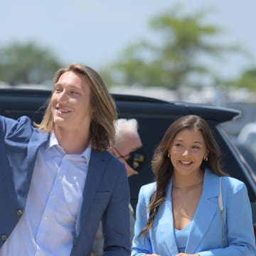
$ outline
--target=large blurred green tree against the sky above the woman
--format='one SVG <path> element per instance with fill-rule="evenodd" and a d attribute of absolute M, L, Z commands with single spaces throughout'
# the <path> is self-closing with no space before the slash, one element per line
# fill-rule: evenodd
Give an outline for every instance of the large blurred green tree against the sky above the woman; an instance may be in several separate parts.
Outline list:
<path fill-rule="evenodd" d="M 141 40 L 124 49 L 119 60 L 105 69 L 112 84 L 162 86 L 177 90 L 182 85 L 198 85 L 191 79 L 207 75 L 220 82 L 210 68 L 201 63 L 198 56 L 220 58 L 222 53 L 242 52 L 238 46 L 221 46 L 212 38 L 222 30 L 205 25 L 207 11 L 183 14 L 181 6 L 151 19 L 150 28 L 160 34 L 160 43 Z M 156 36 L 159 36 L 156 34 Z"/>

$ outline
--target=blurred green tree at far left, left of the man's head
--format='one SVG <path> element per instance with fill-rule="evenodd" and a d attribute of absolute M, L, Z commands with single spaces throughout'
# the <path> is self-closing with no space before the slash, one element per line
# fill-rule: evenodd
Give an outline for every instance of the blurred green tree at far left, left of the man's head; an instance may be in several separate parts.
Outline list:
<path fill-rule="evenodd" d="M 9 85 L 46 82 L 60 66 L 50 50 L 33 42 L 14 42 L 0 48 L 0 80 Z"/>

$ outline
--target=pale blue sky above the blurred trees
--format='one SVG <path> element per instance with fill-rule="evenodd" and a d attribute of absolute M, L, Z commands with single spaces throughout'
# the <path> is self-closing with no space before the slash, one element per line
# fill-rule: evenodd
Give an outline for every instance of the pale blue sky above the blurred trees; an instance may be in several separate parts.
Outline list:
<path fill-rule="evenodd" d="M 12 41 L 35 41 L 50 48 L 64 63 L 83 63 L 99 70 L 122 50 L 142 38 L 154 39 L 149 19 L 181 4 L 193 13 L 213 8 L 206 23 L 225 28 L 216 40 L 238 43 L 250 56 L 228 56 L 210 63 L 225 78 L 233 78 L 256 61 L 255 0 L 23 0 L 2 1 L 0 47 Z"/>

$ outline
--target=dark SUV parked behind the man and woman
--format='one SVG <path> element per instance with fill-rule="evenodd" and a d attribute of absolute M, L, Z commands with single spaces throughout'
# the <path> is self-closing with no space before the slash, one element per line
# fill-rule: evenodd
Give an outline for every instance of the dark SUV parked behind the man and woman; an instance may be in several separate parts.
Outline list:
<path fill-rule="evenodd" d="M 48 90 L 2 89 L 0 90 L 0 114 L 15 119 L 21 115 L 27 115 L 34 121 L 40 122 L 45 110 L 42 106 L 45 105 L 48 97 L 50 97 Z M 165 102 L 132 95 L 113 95 L 113 97 L 117 104 L 119 117 L 138 120 L 139 134 L 142 137 L 143 150 L 146 153 L 146 164 L 140 174 L 129 178 L 132 206 L 135 207 L 137 204 L 139 188 L 154 180 L 150 160 L 167 127 L 178 117 L 197 114 L 206 119 L 213 130 L 222 151 L 224 171 L 228 172 L 230 176 L 240 179 L 247 186 L 252 205 L 253 222 L 256 224 L 255 173 L 221 127 L 222 123 L 240 117 L 240 111 L 184 102 Z"/>

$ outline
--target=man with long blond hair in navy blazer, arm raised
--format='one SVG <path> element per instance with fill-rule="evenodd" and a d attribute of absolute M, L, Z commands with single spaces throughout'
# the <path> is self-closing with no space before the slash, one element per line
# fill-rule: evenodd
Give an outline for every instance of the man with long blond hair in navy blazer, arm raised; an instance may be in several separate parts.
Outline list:
<path fill-rule="evenodd" d="M 129 184 L 106 149 L 117 110 L 100 75 L 72 64 L 55 73 L 40 124 L 0 117 L 0 255 L 130 255 Z"/>

